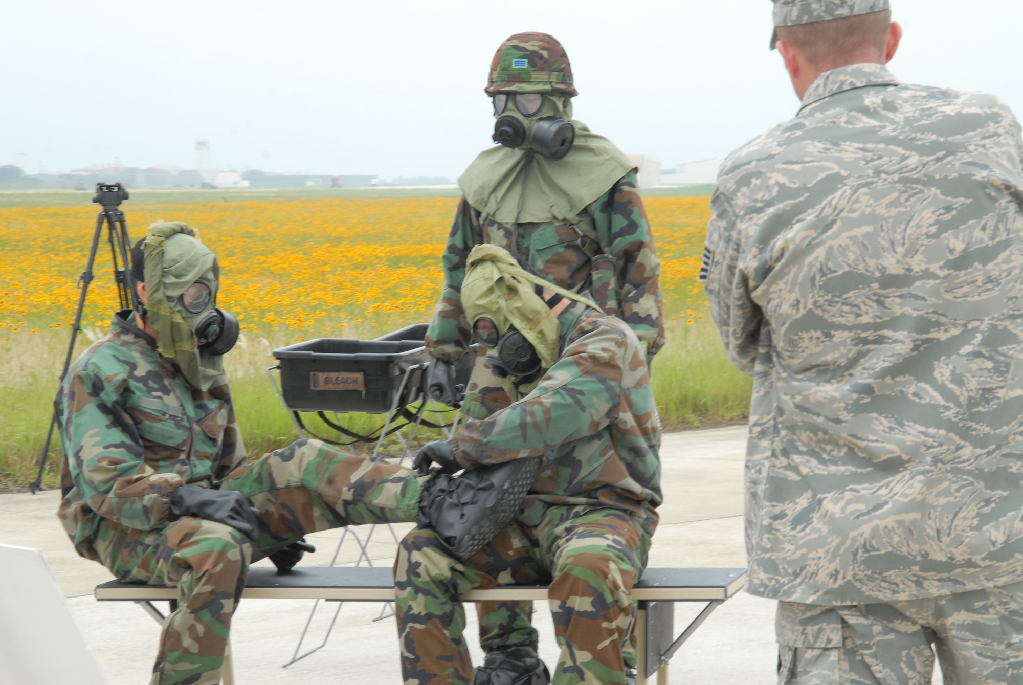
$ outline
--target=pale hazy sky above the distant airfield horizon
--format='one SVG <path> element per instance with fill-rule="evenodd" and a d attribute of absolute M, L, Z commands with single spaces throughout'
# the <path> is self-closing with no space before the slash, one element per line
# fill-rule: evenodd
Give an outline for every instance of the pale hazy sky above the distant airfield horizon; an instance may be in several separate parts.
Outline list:
<path fill-rule="evenodd" d="M 1023 112 L 1019 0 L 892 0 L 904 81 Z M 566 46 L 575 116 L 666 166 L 723 156 L 798 102 L 768 0 L 176 0 L 5 3 L 0 164 L 113 162 L 454 178 L 490 144 L 508 35 Z"/>

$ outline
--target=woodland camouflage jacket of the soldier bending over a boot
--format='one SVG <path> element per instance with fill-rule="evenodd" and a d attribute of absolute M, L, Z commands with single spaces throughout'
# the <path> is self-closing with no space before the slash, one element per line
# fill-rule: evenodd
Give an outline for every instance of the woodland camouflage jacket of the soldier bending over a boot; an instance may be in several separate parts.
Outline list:
<path fill-rule="evenodd" d="M 551 504 L 617 507 L 653 535 L 661 503 L 661 422 L 642 348 L 621 320 L 581 303 L 558 317 L 562 354 L 536 387 L 451 443 L 463 466 L 543 457 L 519 518 Z"/>

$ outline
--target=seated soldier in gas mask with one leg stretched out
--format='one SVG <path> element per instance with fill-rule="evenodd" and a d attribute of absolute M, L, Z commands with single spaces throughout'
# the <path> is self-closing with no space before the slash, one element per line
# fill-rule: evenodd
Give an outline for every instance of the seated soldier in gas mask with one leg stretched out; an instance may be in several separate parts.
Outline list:
<path fill-rule="evenodd" d="M 132 250 L 145 308 L 121 312 L 57 398 L 64 499 L 79 554 L 121 581 L 177 586 L 152 683 L 220 682 L 249 564 L 290 567 L 306 533 L 415 519 L 430 476 L 300 440 L 246 460 L 221 355 L 216 257 L 184 224 Z M 233 336 L 232 324 L 233 322 Z"/>

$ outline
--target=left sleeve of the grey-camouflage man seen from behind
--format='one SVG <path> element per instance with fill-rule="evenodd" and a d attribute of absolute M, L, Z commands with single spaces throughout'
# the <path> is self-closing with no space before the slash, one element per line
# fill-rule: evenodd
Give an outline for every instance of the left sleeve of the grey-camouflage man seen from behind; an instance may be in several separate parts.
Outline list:
<path fill-rule="evenodd" d="M 752 376 L 763 315 L 750 296 L 750 282 L 740 268 L 742 236 L 731 203 L 720 189 L 711 198 L 711 210 L 701 267 L 707 304 L 728 361 Z"/>

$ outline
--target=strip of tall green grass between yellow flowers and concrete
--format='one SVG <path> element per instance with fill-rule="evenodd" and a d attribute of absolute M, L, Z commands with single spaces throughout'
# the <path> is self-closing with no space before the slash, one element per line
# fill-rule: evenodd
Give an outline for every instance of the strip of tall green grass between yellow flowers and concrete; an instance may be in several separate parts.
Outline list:
<path fill-rule="evenodd" d="M 93 336 L 101 330 L 90 331 Z M 359 330 L 359 337 L 373 337 L 382 331 Z M 252 456 L 283 447 L 297 437 L 295 426 L 266 376 L 275 363 L 271 350 L 294 340 L 286 331 L 268 337 L 247 339 L 226 358 L 231 377 L 236 417 L 242 440 Z M 57 374 L 68 346 L 66 330 L 42 330 L 31 337 L 19 334 L 5 345 L 8 355 L 0 360 L 0 490 L 19 490 L 36 475 L 39 454 L 49 427 Z M 89 345 L 80 334 L 77 357 Z M 273 372 L 276 374 L 276 372 Z M 654 361 L 654 392 L 661 420 L 667 429 L 722 425 L 746 418 L 751 381 L 725 358 L 712 324 L 705 317 L 691 325 L 671 323 L 668 345 Z M 379 414 L 348 414 L 344 424 L 359 432 L 369 432 L 383 421 Z M 428 415 L 436 422 L 436 417 Z M 314 414 L 304 414 L 307 425 L 329 437 L 332 431 Z M 336 436 L 337 437 L 337 436 Z M 437 431 L 420 428 L 417 442 L 437 439 Z M 364 452 L 371 445 L 353 450 Z M 385 443 L 385 452 L 398 450 L 396 438 Z M 44 484 L 59 481 L 59 445 L 54 438 Z"/>

